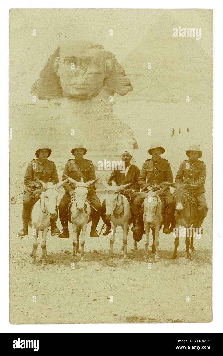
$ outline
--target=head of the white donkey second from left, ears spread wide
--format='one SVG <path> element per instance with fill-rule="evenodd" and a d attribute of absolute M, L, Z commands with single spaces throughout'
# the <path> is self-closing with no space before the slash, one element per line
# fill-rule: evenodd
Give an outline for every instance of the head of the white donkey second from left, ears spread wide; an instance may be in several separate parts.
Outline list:
<path fill-rule="evenodd" d="M 84 210 L 84 204 L 87 198 L 87 188 L 91 188 L 99 181 L 100 178 L 89 180 L 89 182 L 84 182 L 83 178 L 81 177 L 81 181 L 77 182 L 75 179 L 66 176 L 71 185 L 73 185 L 74 195 L 76 200 L 76 206 L 79 213 L 82 213 Z"/>

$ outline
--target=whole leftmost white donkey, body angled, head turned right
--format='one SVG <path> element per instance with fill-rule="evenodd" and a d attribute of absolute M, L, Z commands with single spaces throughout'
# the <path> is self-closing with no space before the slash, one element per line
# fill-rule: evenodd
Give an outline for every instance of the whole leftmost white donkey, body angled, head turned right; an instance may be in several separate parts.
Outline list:
<path fill-rule="evenodd" d="M 60 187 L 67 183 L 67 179 L 62 182 L 53 184 L 51 182 L 44 183 L 39 178 L 36 178 L 39 187 L 43 189 L 40 199 L 33 205 L 29 226 L 33 229 L 33 250 L 30 256 L 33 262 L 36 260 L 37 238 L 38 231 L 42 231 L 42 261 L 46 262 L 46 236 L 50 225 L 50 218 L 55 218 L 57 215 L 58 192 Z"/>

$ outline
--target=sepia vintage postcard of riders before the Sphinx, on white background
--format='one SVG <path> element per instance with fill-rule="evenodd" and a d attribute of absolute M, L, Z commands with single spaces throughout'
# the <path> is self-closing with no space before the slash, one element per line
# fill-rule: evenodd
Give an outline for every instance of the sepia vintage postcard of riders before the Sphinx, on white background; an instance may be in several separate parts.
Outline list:
<path fill-rule="evenodd" d="M 10 323 L 212 321 L 212 10 L 10 10 Z"/>

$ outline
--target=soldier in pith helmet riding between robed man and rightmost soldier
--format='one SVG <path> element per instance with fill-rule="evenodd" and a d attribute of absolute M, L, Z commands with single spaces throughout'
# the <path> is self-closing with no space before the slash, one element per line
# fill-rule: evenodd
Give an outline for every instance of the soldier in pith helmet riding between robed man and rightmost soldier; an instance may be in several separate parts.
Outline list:
<path fill-rule="evenodd" d="M 162 155 L 164 152 L 165 149 L 160 145 L 160 143 L 155 142 L 150 146 L 148 153 L 150 156 L 152 156 L 152 158 L 146 159 L 138 179 L 139 187 L 143 192 L 147 192 L 151 188 L 156 190 L 166 187 L 163 182 L 172 183 L 173 177 L 170 163 L 167 159 L 160 157 L 160 155 Z M 163 232 L 164 234 L 169 234 L 170 231 L 173 231 L 173 228 L 175 227 L 175 205 L 170 193 L 170 188 L 165 189 L 161 196 L 164 198 L 166 209 L 166 223 L 164 225 Z M 140 234 L 141 232 L 139 214 L 143 201 L 144 198 L 136 197 L 134 203 L 132 204 L 134 219 L 135 221 L 138 221 L 138 223 L 136 223 L 136 225 L 132 228 L 132 231 L 136 234 Z M 172 223 L 171 230 L 170 223 Z"/>

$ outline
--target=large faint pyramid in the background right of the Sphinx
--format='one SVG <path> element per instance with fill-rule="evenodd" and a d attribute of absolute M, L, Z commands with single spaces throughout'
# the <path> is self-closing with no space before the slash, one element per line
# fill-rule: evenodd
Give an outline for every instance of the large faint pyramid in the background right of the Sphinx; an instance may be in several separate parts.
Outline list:
<path fill-rule="evenodd" d="M 193 102 L 212 101 L 212 56 L 195 37 L 173 37 L 179 26 L 190 27 L 165 12 L 124 59 L 133 86 L 127 101 L 186 102 L 188 95 Z"/>

